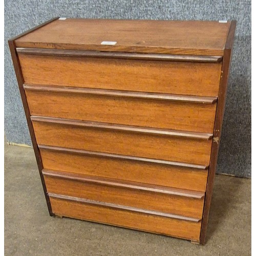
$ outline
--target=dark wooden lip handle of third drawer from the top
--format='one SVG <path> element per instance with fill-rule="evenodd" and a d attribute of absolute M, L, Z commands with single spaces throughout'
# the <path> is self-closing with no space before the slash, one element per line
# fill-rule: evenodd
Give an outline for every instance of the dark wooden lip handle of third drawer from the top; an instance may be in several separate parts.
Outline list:
<path fill-rule="evenodd" d="M 59 123 L 59 124 L 74 125 L 74 126 L 81 126 L 81 127 L 92 127 L 96 129 L 109 129 L 109 130 L 117 130 L 117 131 L 124 131 L 124 132 L 178 136 L 178 137 L 187 137 L 187 138 L 193 138 L 193 139 L 209 140 L 213 136 L 212 134 L 209 134 L 209 133 L 188 132 L 188 131 L 179 131 L 179 130 L 171 130 L 171 129 L 159 129 L 159 128 L 152 128 L 152 127 L 93 122 L 93 121 L 66 119 L 66 118 L 58 118 L 58 117 L 31 116 L 30 118 L 32 121 L 37 121 L 37 122 Z"/>

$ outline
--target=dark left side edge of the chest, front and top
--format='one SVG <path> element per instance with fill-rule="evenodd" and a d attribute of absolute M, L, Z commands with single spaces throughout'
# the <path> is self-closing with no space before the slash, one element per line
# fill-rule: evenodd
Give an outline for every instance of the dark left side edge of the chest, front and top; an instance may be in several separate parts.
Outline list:
<path fill-rule="evenodd" d="M 9 48 L 10 48 L 10 52 L 11 52 L 11 57 L 12 57 L 12 61 L 13 61 L 13 67 L 14 67 L 14 71 L 16 74 L 16 78 L 17 78 L 17 83 L 18 83 L 18 88 L 19 88 L 19 93 L 20 96 L 22 98 L 22 102 L 23 102 L 23 107 L 24 107 L 24 111 L 25 111 L 25 116 L 27 119 L 27 123 L 28 123 L 28 127 L 29 127 L 29 133 L 30 133 L 30 137 L 32 140 L 32 145 L 33 145 L 33 149 L 34 149 L 34 153 L 35 153 L 35 158 L 36 158 L 36 162 L 37 162 L 37 166 L 38 166 L 38 170 L 39 170 L 39 175 L 40 175 L 40 179 L 42 182 L 42 188 L 44 189 L 44 194 L 45 194 L 45 198 L 46 198 L 46 203 L 48 206 L 48 210 L 49 210 L 49 214 L 50 216 L 54 216 L 53 212 L 52 212 L 52 207 L 51 207 L 51 203 L 50 203 L 50 198 L 48 196 L 47 193 L 47 189 L 46 189 L 46 184 L 45 184 L 45 179 L 44 176 L 42 175 L 42 161 L 41 161 L 41 156 L 39 153 L 39 148 L 37 146 L 36 143 L 36 138 L 35 138 L 35 133 L 34 133 L 34 129 L 33 129 L 33 125 L 32 125 L 32 121 L 30 119 L 30 111 L 29 111 L 29 107 L 28 107 L 28 102 L 27 102 L 27 98 L 25 95 L 25 90 L 23 88 L 23 84 L 24 84 L 24 78 L 22 75 L 22 69 L 20 68 L 20 63 L 18 60 L 18 55 L 16 52 L 16 45 L 15 45 L 15 40 L 19 37 L 22 37 L 38 28 L 41 28 L 49 23 L 51 23 L 53 20 L 58 19 L 58 17 L 55 17 L 53 19 L 48 20 L 47 22 L 36 26 L 22 34 L 19 34 L 11 39 L 8 40 L 8 44 L 9 44 Z"/>

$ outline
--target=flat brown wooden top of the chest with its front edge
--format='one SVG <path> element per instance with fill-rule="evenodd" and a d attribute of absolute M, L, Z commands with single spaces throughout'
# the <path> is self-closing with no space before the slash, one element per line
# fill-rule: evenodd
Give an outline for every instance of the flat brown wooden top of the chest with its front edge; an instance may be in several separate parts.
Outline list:
<path fill-rule="evenodd" d="M 15 40 L 16 47 L 222 56 L 230 22 L 56 19 Z M 116 41 L 116 45 L 101 45 Z"/>

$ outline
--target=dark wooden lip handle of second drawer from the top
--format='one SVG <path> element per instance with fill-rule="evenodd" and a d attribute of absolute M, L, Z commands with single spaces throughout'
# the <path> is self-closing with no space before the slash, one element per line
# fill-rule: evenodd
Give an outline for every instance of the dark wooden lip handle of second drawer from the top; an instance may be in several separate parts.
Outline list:
<path fill-rule="evenodd" d="M 68 87 L 68 86 L 42 86 L 40 84 L 32 85 L 32 84 L 26 84 L 26 83 L 23 85 L 23 87 L 25 90 L 43 91 L 43 92 L 92 94 L 92 95 L 103 95 L 103 96 L 113 96 L 113 97 L 182 101 L 182 102 L 201 103 L 201 104 L 213 104 L 218 99 L 218 97 L 211 97 L 211 96 L 135 92 L 135 91 L 94 89 L 94 88 Z"/>

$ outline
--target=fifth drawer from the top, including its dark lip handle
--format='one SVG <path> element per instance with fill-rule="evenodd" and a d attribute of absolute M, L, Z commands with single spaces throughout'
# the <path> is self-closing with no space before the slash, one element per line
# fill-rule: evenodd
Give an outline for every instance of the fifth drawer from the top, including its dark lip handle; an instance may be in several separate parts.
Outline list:
<path fill-rule="evenodd" d="M 202 218 L 204 193 L 163 186 L 129 183 L 116 179 L 93 178 L 43 171 L 48 193 L 83 198 L 115 205 L 154 210 L 175 218 Z"/>

